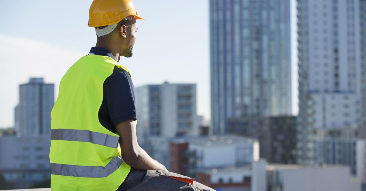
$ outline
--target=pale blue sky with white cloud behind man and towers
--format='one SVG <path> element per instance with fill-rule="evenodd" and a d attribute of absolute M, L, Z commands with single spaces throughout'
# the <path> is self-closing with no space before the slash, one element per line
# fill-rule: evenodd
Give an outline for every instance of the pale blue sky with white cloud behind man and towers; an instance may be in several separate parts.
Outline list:
<path fill-rule="evenodd" d="M 295 18 L 294 0 L 292 18 Z M 0 127 L 14 125 L 18 86 L 30 77 L 55 83 L 95 45 L 87 26 L 91 0 L 0 1 Z M 210 118 L 208 0 L 134 0 L 139 15 L 134 56 L 120 64 L 132 74 L 135 87 L 163 83 L 197 83 L 197 112 Z M 295 21 L 292 20 L 293 26 Z M 292 39 L 296 43 L 295 28 Z M 292 65 L 297 72 L 296 44 Z M 293 112 L 297 114 L 297 77 L 293 75 Z"/>

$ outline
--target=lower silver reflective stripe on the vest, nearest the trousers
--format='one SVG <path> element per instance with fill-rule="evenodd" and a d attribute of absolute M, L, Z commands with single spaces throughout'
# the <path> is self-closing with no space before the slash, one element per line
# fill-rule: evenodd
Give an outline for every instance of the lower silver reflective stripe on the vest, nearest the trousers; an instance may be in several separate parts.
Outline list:
<path fill-rule="evenodd" d="M 121 158 L 113 157 L 105 166 L 79 166 L 51 163 L 51 173 L 62 176 L 102 178 L 115 172 L 122 162 L 123 160 Z"/>

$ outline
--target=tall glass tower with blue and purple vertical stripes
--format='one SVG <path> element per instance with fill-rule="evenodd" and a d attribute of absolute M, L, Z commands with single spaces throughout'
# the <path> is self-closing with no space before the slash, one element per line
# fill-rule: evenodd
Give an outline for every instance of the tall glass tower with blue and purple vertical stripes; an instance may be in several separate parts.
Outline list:
<path fill-rule="evenodd" d="M 290 0 L 210 0 L 211 119 L 291 115 Z"/>

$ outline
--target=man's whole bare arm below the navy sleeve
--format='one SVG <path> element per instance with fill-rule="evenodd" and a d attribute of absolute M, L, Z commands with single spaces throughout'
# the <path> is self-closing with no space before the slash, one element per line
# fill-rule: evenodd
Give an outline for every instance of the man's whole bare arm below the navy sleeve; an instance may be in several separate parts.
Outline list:
<path fill-rule="evenodd" d="M 135 120 L 123 121 L 116 126 L 122 158 L 126 164 L 140 171 L 168 171 L 164 165 L 154 160 L 137 143 Z"/>

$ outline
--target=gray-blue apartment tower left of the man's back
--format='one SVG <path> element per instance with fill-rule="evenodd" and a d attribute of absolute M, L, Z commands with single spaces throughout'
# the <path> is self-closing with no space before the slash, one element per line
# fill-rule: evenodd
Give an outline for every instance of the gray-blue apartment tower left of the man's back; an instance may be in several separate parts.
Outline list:
<path fill-rule="evenodd" d="M 43 78 L 30 78 L 19 86 L 19 104 L 15 107 L 15 129 L 18 136 L 49 135 L 54 85 Z"/>

